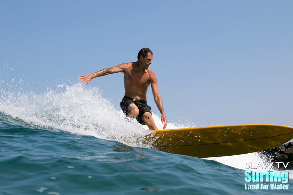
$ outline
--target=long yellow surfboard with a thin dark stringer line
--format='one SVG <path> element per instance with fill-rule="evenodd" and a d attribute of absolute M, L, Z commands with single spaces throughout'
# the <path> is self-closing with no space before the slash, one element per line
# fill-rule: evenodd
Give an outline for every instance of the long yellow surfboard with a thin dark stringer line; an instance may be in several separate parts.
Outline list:
<path fill-rule="evenodd" d="M 262 151 L 293 139 L 293 128 L 282 125 L 225 125 L 157 130 L 154 149 L 199 158 Z"/>

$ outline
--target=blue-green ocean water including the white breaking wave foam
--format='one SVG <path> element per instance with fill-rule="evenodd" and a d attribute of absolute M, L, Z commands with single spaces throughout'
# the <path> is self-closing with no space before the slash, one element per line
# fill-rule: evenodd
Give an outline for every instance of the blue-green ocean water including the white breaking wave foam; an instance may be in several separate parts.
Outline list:
<path fill-rule="evenodd" d="M 255 153 L 202 159 L 152 149 L 145 141 L 152 132 L 127 122 L 95 87 L 0 92 L 1 195 L 293 193 L 291 170 L 286 190 L 245 189 L 283 184 L 245 182 L 246 163 L 264 161 Z M 160 129 L 160 117 L 153 115 Z"/>

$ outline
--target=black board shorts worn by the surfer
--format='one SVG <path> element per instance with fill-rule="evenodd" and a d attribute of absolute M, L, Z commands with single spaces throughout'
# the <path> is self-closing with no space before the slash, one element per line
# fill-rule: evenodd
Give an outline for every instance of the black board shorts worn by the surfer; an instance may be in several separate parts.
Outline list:
<path fill-rule="evenodd" d="M 120 106 L 122 108 L 123 113 L 127 116 L 128 115 L 128 106 L 129 104 L 134 103 L 138 110 L 138 116 L 136 117 L 137 122 L 139 122 L 142 125 L 145 125 L 144 121 L 141 119 L 142 115 L 146 112 L 151 113 L 151 107 L 147 105 L 147 101 L 144 100 L 138 100 L 138 99 L 132 99 L 130 97 L 124 96 L 122 101 L 120 102 Z"/>

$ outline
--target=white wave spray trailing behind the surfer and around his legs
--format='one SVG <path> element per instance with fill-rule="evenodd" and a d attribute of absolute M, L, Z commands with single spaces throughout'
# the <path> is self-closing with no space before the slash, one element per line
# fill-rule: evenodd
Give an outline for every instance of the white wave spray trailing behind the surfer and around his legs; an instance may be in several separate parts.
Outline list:
<path fill-rule="evenodd" d="M 91 135 L 130 146 L 148 147 L 145 136 L 152 132 L 135 119 L 127 122 L 121 109 L 103 98 L 99 89 L 81 84 L 58 85 L 42 94 L 5 92 L 0 111 L 23 120 L 29 127 Z M 153 118 L 162 129 L 161 117 L 153 113 Z M 186 126 L 169 122 L 167 127 Z"/>

